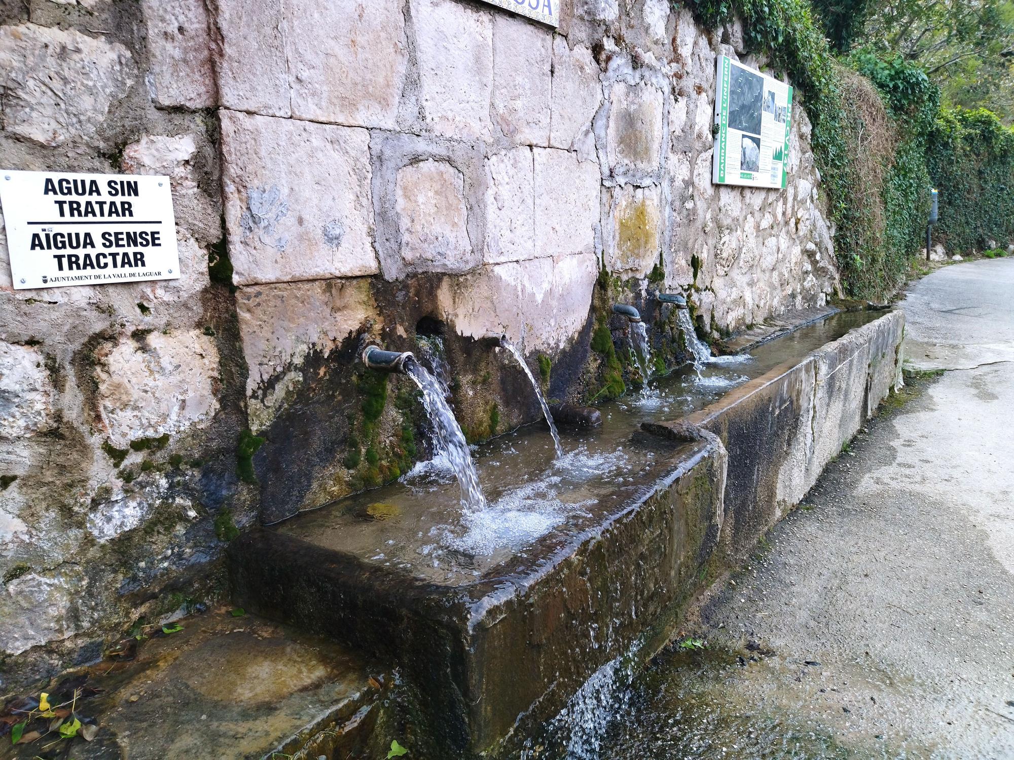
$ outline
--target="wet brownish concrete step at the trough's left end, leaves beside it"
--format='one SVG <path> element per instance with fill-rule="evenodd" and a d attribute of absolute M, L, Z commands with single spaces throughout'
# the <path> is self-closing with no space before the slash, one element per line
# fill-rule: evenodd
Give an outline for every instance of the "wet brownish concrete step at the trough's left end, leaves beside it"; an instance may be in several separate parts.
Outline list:
<path fill-rule="evenodd" d="M 332 639 L 250 614 L 215 609 L 177 622 L 183 629 L 168 635 L 161 626 L 146 628 L 151 637 L 132 660 L 106 659 L 40 689 L 56 705 L 80 688 L 73 706 L 97 723 L 92 741 L 61 739 L 57 730 L 11 747 L 8 733 L 0 758 L 383 756 L 371 745 L 391 682 L 382 669 Z M 29 724 L 25 734 L 47 723 Z"/>

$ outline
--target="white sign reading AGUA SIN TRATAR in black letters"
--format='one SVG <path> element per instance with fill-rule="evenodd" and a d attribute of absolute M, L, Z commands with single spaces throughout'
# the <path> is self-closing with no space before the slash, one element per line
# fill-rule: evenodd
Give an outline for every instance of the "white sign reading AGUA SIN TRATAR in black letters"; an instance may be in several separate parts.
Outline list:
<path fill-rule="evenodd" d="M 15 290 L 179 277 L 167 176 L 0 170 Z"/>

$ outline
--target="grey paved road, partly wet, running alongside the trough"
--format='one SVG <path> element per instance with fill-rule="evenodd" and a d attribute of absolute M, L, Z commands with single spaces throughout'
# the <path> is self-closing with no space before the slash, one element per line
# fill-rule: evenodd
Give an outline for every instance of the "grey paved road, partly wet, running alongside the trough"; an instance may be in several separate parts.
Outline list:
<path fill-rule="evenodd" d="M 601 757 L 1014 758 L 1014 260 L 902 304 L 909 387 L 636 684 Z M 955 368 L 955 369 L 949 369 Z"/>

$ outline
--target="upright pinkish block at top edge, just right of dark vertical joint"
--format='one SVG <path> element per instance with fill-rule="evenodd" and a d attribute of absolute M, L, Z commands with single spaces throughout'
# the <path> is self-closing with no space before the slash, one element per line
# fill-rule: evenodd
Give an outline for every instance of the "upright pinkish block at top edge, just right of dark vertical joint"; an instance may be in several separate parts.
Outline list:
<path fill-rule="evenodd" d="M 291 115 L 285 18 L 279 0 L 210 0 L 219 104 Z"/>

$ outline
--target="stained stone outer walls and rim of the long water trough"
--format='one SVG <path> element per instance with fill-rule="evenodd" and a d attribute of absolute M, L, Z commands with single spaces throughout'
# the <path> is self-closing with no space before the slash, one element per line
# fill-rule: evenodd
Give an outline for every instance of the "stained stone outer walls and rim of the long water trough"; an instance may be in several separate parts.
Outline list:
<path fill-rule="evenodd" d="M 434 573 L 412 514 L 331 531 L 302 516 L 232 544 L 235 600 L 395 667 L 414 757 L 517 757 L 526 740 L 526 756 L 552 757 L 539 727 L 603 666 L 653 655 L 895 387 L 902 332 L 884 313 L 679 422 L 645 423 L 627 442 L 639 471 L 524 551 Z M 410 558 L 365 551 L 364 535 Z"/>

